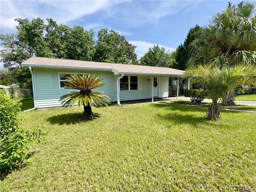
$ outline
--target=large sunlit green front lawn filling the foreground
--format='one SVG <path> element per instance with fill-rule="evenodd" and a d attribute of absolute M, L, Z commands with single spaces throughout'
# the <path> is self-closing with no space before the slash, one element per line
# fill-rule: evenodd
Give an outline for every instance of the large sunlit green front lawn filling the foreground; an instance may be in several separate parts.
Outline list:
<path fill-rule="evenodd" d="M 1 191 L 255 190 L 255 114 L 167 103 L 21 114 L 22 127 L 41 129 L 31 164 L 1 182 Z"/>

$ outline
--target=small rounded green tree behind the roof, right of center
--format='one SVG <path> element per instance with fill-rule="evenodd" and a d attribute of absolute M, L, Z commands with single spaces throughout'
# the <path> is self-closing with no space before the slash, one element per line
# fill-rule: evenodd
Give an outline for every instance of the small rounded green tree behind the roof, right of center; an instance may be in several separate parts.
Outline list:
<path fill-rule="evenodd" d="M 148 52 L 140 59 L 140 65 L 156 67 L 172 67 L 173 62 L 172 54 L 158 45 L 150 47 Z"/>

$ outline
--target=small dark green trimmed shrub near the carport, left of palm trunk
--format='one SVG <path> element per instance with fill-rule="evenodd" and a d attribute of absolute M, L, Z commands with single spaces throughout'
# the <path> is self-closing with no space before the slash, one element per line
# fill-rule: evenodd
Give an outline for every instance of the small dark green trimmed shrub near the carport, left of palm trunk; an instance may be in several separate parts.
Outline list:
<path fill-rule="evenodd" d="M 184 92 L 184 96 L 189 97 L 190 101 L 194 103 L 201 103 L 207 97 L 207 95 L 209 95 L 209 92 L 201 89 L 185 90 Z"/>

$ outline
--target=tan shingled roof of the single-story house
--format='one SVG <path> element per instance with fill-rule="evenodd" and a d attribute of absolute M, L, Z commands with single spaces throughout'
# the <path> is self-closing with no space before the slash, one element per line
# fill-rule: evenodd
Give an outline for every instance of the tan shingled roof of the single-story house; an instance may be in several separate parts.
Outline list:
<path fill-rule="evenodd" d="M 173 75 L 181 76 L 185 71 L 167 67 L 126 65 L 106 62 L 79 61 L 69 59 L 32 57 L 21 63 L 24 67 L 72 68 L 88 70 L 109 70 L 117 74 Z"/>

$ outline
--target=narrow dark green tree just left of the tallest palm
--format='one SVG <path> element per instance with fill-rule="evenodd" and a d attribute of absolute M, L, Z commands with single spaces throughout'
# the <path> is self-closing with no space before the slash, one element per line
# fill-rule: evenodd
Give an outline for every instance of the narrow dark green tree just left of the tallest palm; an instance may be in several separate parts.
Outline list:
<path fill-rule="evenodd" d="M 189 53 L 189 45 L 191 42 L 197 39 L 201 31 L 202 27 L 198 25 L 189 29 L 184 43 L 180 44 L 175 51 L 175 62 L 173 63 L 173 68 L 180 70 L 185 70 L 187 68 L 187 62 L 191 56 Z"/>

